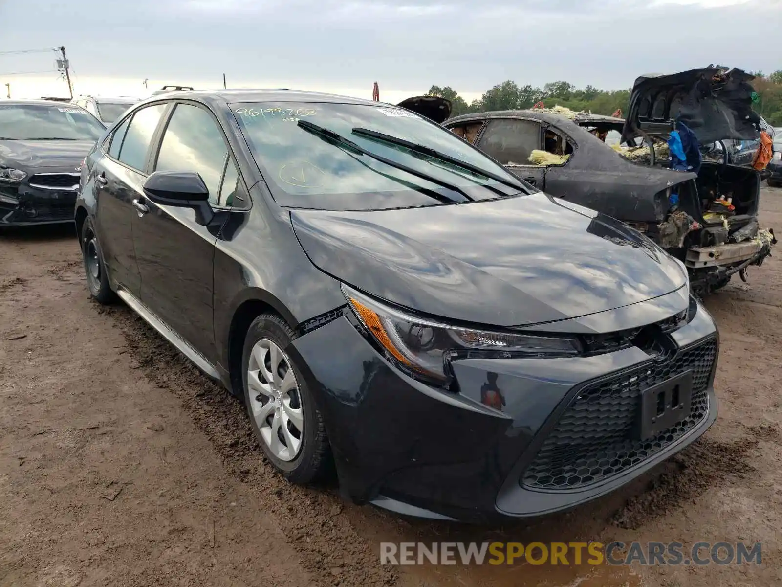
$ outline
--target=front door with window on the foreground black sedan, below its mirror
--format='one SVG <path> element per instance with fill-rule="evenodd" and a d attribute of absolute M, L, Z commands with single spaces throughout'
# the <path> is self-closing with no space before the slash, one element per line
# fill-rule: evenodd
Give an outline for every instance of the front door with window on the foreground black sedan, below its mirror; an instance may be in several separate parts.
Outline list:
<path fill-rule="evenodd" d="M 227 209 L 238 171 L 228 142 L 205 106 L 178 102 L 160 133 L 150 171 L 195 171 L 214 208 Z M 222 190 L 223 184 L 226 184 Z M 221 199 L 222 196 L 222 199 Z M 214 243 L 222 220 L 199 225 L 190 208 L 163 206 L 144 198 L 149 210 L 133 220 L 133 236 L 142 278 L 141 301 L 204 358 L 214 358 L 212 279 Z"/>

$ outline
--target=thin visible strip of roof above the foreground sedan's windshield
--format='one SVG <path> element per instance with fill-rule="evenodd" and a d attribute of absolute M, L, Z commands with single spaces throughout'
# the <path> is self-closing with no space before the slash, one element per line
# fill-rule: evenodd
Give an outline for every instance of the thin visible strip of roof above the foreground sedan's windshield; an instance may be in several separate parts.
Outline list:
<path fill-rule="evenodd" d="M 154 102 L 160 99 L 194 99 L 206 103 L 250 103 L 250 102 L 321 102 L 334 104 L 370 104 L 375 106 L 392 106 L 381 102 L 373 102 L 361 98 L 351 98 L 345 95 L 325 94 L 321 92 L 302 92 L 287 89 L 216 89 L 216 90 L 183 90 L 163 92 L 152 95 L 143 102 Z"/>

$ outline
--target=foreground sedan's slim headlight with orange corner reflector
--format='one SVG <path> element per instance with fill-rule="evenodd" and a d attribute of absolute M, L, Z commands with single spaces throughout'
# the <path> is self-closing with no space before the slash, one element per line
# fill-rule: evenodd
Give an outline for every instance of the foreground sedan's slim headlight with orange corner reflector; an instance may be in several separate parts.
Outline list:
<path fill-rule="evenodd" d="M 510 330 L 448 326 L 391 308 L 343 285 L 343 293 L 386 358 L 438 384 L 450 378 L 455 358 L 558 357 L 577 355 L 579 343 Z"/>

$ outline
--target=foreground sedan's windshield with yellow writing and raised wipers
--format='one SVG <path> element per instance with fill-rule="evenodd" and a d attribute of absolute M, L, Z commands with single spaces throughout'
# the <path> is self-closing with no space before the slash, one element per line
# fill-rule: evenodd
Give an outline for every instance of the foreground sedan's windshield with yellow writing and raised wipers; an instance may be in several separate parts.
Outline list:
<path fill-rule="evenodd" d="M 231 110 L 275 200 L 283 206 L 377 210 L 430 206 L 465 196 L 485 200 L 521 191 L 514 187 L 515 176 L 478 149 L 394 106 L 234 103 Z M 407 146 L 389 139 L 404 139 Z M 511 185 L 497 178 L 507 178 Z"/>

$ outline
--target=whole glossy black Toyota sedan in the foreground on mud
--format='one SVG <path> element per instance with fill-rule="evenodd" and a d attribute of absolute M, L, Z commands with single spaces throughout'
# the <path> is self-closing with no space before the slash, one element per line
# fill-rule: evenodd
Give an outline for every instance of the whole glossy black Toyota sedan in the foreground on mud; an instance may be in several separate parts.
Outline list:
<path fill-rule="evenodd" d="M 295 483 L 400 513 L 594 499 L 715 420 L 683 265 L 409 110 L 178 92 L 86 160 L 89 290 L 243 398 Z"/>

